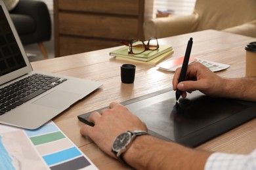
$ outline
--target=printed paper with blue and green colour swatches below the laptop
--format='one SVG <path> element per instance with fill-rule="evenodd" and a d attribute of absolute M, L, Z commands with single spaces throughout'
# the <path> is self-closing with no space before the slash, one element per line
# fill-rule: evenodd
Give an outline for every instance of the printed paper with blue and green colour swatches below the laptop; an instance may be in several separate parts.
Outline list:
<path fill-rule="evenodd" d="M 36 130 L 0 125 L 0 169 L 97 169 L 49 122 Z"/>

